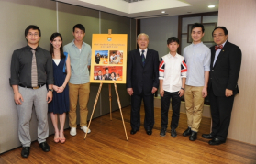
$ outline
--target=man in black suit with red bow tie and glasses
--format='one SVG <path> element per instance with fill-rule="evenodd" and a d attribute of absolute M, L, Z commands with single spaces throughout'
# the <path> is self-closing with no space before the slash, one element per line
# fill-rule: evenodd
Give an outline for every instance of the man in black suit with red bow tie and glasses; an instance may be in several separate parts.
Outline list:
<path fill-rule="evenodd" d="M 226 27 L 216 27 L 212 33 L 216 46 L 211 47 L 211 71 L 208 83 L 212 115 L 212 132 L 202 137 L 212 139 L 210 145 L 226 142 L 238 79 L 241 50 L 228 42 Z"/>

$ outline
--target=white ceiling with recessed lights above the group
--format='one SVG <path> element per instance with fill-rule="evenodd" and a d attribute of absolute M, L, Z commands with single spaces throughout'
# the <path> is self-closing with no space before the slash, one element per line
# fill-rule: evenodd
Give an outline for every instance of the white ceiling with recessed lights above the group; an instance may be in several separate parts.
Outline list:
<path fill-rule="evenodd" d="M 56 0 L 136 19 L 206 13 L 218 10 L 219 0 Z M 131 3 L 129 3 L 131 2 Z M 208 5 L 215 5 L 208 8 Z M 165 11 L 165 13 L 161 13 Z"/>

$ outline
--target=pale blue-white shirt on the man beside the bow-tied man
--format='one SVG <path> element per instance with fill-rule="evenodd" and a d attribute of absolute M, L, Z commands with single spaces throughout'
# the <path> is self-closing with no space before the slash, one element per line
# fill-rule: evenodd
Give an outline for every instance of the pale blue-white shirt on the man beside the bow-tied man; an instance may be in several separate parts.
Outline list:
<path fill-rule="evenodd" d="M 205 71 L 210 71 L 211 50 L 203 44 L 191 44 L 184 48 L 187 65 L 186 85 L 205 86 Z"/>

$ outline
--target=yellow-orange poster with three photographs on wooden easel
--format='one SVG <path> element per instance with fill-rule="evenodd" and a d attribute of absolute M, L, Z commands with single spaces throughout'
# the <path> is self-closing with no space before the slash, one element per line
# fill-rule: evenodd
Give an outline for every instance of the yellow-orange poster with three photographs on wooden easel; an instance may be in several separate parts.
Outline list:
<path fill-rule="evenodd" d="M 126 83 L 127 34 L 93 34 L 90 82 Z"/>

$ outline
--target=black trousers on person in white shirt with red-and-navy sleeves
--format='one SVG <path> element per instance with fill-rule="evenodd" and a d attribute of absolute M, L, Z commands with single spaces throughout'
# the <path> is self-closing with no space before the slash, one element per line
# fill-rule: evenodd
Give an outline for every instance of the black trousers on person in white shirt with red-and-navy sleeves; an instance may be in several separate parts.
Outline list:
<path fill-rule="evenodd" d="M 172 122 L 171 128 L 176 129 L 179 124 L 180 119 L 180 107 L 181 107 L 181 97 L 178 92 L 169 93 L 164 91 L 163 97 L 161 97 L 161 127 L 167 128 L 168 124 L 168 111 L 170 107 L 170 99 L 172 98 Z"/>

